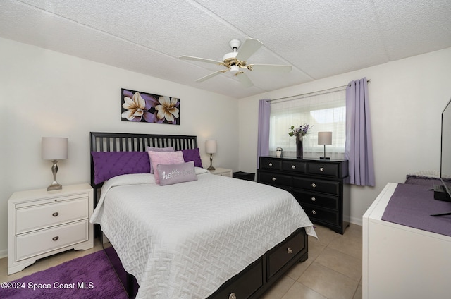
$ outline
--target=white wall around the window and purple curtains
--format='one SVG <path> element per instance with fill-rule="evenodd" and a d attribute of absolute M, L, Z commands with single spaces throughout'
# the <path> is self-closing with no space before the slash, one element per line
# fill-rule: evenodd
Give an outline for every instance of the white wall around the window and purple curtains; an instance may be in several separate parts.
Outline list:
<path fill-rule="evenodd" d="M 451 48 L 240 99 L 240 171 L 255 172 L 257 167 L 259 99 L 371 79 L 376 186 L 351 188 L 352 223 L 362 225 L 364 212 L 386 183 L 403 183 L 408 173 L 440 170 L 440 114 L 451 99 L 450 66 Z"/>

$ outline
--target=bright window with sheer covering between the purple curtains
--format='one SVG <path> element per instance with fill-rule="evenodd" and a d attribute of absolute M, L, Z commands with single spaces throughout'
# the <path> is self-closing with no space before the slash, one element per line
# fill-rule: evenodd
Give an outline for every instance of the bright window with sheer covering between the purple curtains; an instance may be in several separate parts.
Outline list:
<path fill-rule="evenodd" d="M 276 155 L 282 147 L 284 157 L 296 157 L 296 141 L 288 132 L 291 126 L 308 123 L 304 137 L 304 157 L 322 157 L 324 145 L 318 145 L 318 132 L 331 131 L 332 145 L 326 145 L 326 156 L 342 159 L 346 138 L 346 90 L 328 90 L 271 102 L 269 152 Z"/>

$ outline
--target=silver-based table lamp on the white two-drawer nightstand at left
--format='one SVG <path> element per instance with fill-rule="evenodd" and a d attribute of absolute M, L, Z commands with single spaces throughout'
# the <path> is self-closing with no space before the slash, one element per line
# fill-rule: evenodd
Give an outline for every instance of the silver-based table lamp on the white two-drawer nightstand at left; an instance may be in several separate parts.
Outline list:
<path fill-rule="evenodd" d="M 47 191 L 60 190 L 62 185 L 56 181 L 56 173 L 58 172 L 58 160 L 68 159 L 68 143 L 69 138 L 66 137 L 43 137 L 41 140 L 42 159 L 51 160 L 51 173 L 54 175 L 54 181 L 49 185 Z"/>

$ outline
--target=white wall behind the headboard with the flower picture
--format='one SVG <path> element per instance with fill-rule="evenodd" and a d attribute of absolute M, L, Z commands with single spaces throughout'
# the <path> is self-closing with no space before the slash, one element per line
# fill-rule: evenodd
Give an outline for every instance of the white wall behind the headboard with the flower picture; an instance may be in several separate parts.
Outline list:
<path fill-rule="evenodd" d="M 121 121 L 121 87 L 179 97 L 180 126 Z M 197 135 L 204 166 L 205 140 L 214 138 L 214 165 L 237 171 L 237 109 L 237 99 L 0 39 L 0 257 L 8 198 L 52 181 L 42 136 L 69 138 L 69 157 L 58 163 L 62 185 L 89 183 L 90 131 Z"/>

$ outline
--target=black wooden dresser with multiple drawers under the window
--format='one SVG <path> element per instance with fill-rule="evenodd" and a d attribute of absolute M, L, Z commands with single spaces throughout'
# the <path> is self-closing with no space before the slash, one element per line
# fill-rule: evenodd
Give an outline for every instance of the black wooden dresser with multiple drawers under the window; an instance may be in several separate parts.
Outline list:
<path fill-rule="evenodd" d="M 344 233 L 350 224 L 348 161 L 259 157 L 257 182 L 292 193 L 314 223 Z"/>

